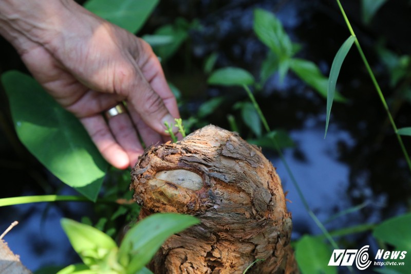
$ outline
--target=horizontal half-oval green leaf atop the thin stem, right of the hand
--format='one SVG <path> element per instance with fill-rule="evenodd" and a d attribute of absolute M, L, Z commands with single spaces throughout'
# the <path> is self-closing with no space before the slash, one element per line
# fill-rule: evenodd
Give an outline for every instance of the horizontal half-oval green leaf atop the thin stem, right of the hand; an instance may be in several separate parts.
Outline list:
<path fill-rule="evenodd" d="M 254 77 L 245 69 L 225 67 L 215 70 L 207 82 L 211 85 L 242 86 L 254 84 Z"/>

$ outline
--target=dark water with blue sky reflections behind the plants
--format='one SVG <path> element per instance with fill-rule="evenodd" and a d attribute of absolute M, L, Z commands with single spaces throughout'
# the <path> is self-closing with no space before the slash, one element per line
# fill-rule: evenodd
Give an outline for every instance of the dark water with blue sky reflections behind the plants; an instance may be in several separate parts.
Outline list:
<path fill-rule="evenodd" d="M 359 18 L 357 2 L 344 1 L 343 5 L 371 66 L 376 68 L 388 104 L 399 105 L 395 108 L 398 127 L 410 126 L 409 102 L 398 96 L 395 88 L 389 87 L 387 71 L 379 62 L 373 46 L 383 37 L 391 50 L 409 54 L 411 47 L 405 37 L 410 36 L 410 28 L 401 26 L 407 22 L 409 25 L 407 16 L 411 8 L 406 1 L 390 1 L 371 26 L 365 27 Z M 158 25 L 172 22 L 177 16 L 189 21 L 198 18 L 201 23 L 201 28 L 190 32 L 188 45 L 164 64 L 168 79 L 181 89 L 185 98 L 181 106 L 183 117 L 195 113 L 201 102 L 217 95 L 225 95 L 227 99 L 209 117 L 209 121 L 229 129 L 226 115 L 239 117 L 231 106 L 238 100 L 245 100 L 245 93 L 240 89 L 208 87 L 202 65 L 209 54 L 216 52 L 216 67 L 238 66 L 258 76 L 267 49 L 256 39 L 252 30 L 253 9 L 257 7 L 274 11 L 293 42 L 303 46 L 297 56 L 315 62 L 326 75 L 335 52 L 349 36 L 334 1 L 203 0 L 189 4 L 185 1 L 161 3 L 144 31 L 150 33 Z M 390 14 L 396 14 L 395 18 Z M 365 205 L 361 210 L 327 222 L 329 230 L 378 223 L 406 212 L 411 191 L 410 172 L 399 144 L 354 47 L 343 65 L 338 87 L 348 102 L 333 105 L 326 139 L 325 99 L 291 73 L 284 82 L 274 75 L 256 94 L 270 127 L 285 129 L 294 140 L 295 148 L 285 149 L 284 155 L 310 208 L 320 220 L 326 222 L 343 210 Z M 247 137 L 245 129 L 241 130 L 241 134 Z M 404 138 L 404 142 L 409 150 L 409 139 Z M 2 148 L 3 151 L 12 153 L 8 145 Z M 291 200 L 288 208 L 294 224 L 293 239 L 306 233 L 320 233 L 306 213 L 283 163 L 274 152 L 264 152 L 277 168 L 284 190 L 288 191 L 287 198 Z M 18 157 L 14 158 L 19 161 Z M 5 159 L 3 155 L 2 159 Z M 31 170 L 40 167 L 35 165 L 29 165 Z M 3 168 L 3 172 L 5 179 L 2 184 L 10 188 L 4 196 L 41 194 L 44 191 L 35 187 L 38 184 L 32 182 L 32 176 L 25 170 Z M 41 175 L 46 176 L 44 172 Z M 59 188 L 58 185 L 52 186 Z M 23 224 L 9 233 L 5 240 L 29 268 L 37 269 L 47 264 L 66 265 L 76 257 L 72 252 L 66 252 L 70 247 L 59 220 L 62 216 L 79 217 L 85 208 L 84 205 L 73 204 L 2 208 L 0 230 L 15 218 L 23 220 Z M 45 220 L 43 223 L 42 217 Z M 378 248 L 368 233 L 349 235 L 345 242 L 351 248 L 360 248 L 365 244 L 370 244 L 371 249 Z"/>

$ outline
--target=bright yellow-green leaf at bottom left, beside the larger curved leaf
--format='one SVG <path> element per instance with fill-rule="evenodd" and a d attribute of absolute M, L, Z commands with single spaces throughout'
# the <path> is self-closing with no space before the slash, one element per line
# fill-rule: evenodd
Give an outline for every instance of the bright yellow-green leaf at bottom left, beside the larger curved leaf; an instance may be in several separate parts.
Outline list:
<path fill-rule="evenodd" d="M 73 249 L 88 266 L 98 263 L 111 250 L 117 249 L 113 239 L 92 226 L 67 218 L 62 218 L 60 223 Z"/>

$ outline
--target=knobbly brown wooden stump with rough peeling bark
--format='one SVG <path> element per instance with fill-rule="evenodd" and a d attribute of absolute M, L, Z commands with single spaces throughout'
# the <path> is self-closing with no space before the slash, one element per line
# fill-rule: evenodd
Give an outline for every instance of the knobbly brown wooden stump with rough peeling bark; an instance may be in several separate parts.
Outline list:
<path fill-rule="evenodd" d="M 131 188 L 152 212 L 179 212 L 201 224 L 173 235 L 151 263 L 155 273 L 292 273 L 291 214 L 281 181 L 254 145 L 219 127 L 148 148 Z"/>

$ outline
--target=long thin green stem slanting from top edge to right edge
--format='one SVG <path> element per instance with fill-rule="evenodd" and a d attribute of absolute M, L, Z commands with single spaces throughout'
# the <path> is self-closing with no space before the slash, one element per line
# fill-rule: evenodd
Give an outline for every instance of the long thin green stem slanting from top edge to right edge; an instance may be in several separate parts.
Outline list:
<path fill-rule="evenodd" d="M 351 35 L 353 35 L 353 36 L 356 37 L 356 40 L 354 41 L 354 43 L 356 44 L 357 49 L 358 49 L 358 51 L 359 51 L 359 53 L 360 53 L 361 59 L 363 60 L 364 65 L 365 65 L 365 67 L 366 67 L 366 69 L 367 69 L 367 71 L 368 71 L 368 74 L 369 74 L 369 76 L 371 77 L 371 81 L 372 81 L 372 83 L 374 84 L 374 86 L 375 86 L 375 88 L 376 88 L 376 90 L 377 90 L 378 96 L 380 97 L 381 102 L 382 102 L 382 104 L 383 104 L 383 106 L 384 106 L 384 109 L 385 109 L 385 111 L 386 111 L 386 113 L 387 113 L 387 115 L 388 115 L 388 119 L 389 119 L 389 121 L 390 121 L 390 123 L 391 123 L 391 126 L 393 126 L 394 132 L 395 132 L 395 134 L 397 135 L 397 139 L 398 139 L 398 142 L 400 143 L 400 147 L 401 147 L 402 153 L 404 154 L 405 160 L 407 161 L 408 168 L 409 168 L 409 170 L 411 171 L 411 160 L 410 160 L 410 158 L 409 158 L 409 156 L 408 156 L 407 150 L 405 149 L 405 146 L 404 146 L 404 143 L 403 143 L 403 141 L 402 141 L 401 135 L 398 134 L 397 126 L 396 126 L 396 124 L 395 124 L 395 122 L 394 122 L 393 116 L 391 116 L 391 113 L 389 112 L 388 104 L 387 104 L 387 102 L 385 101 L 384 95 L 382 94 L 380 85 L 378 84 L 377 79 L 376 79 L 376 77 L 374 76 L 374 73 L 372 72 L 372 69 L 371 69 L 369 63 L 368 63 L 367 59 L 365 58 L 365 54 L 364 54 L 364 52 L 363 52 L 363 50 L 362 50 L 362 48 L 361 48 L 361 46 L 360 46 L 360 42 L 358 42 L 357 36 L 356 36 L 356 34 L 354 33 L 354 31 L 352 30 L 351 24 L 350 24 L 350 22 L 348 21 L 348 17 L 347 17 L 347 15 L 345 14 L 345 11 L 344 11 L 344 9 L 343 9 L 343 6 L 342 6 L 341 3 L 340 3 L 340 0 L 337 0 L 337 3 L 338 3 L 338 6 L 340 7 L 341 13 L 343 14 L 345 23 L 347 24 L 347 27 L 348 27 Z"/>

